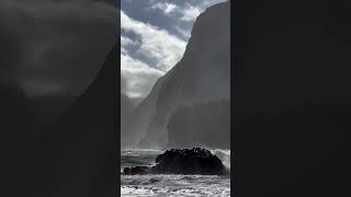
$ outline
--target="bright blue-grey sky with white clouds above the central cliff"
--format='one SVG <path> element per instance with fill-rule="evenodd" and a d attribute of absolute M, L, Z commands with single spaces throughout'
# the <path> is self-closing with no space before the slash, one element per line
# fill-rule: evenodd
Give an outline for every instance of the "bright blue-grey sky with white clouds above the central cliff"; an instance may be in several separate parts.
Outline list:
<path fill-rule="evenodd" d="M 226 0 L 122 0 L 121 92 L 146 97 L 182 58 L 196 16 Z"/>

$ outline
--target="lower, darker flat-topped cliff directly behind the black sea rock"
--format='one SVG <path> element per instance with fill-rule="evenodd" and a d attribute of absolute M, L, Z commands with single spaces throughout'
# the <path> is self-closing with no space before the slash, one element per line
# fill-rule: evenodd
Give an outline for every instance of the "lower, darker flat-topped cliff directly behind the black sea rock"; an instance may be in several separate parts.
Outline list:
<path fill-rule="evenodd" d="M 230 149 L 230 101 L 179 107 L 167 128 L 169 148 Z"/>

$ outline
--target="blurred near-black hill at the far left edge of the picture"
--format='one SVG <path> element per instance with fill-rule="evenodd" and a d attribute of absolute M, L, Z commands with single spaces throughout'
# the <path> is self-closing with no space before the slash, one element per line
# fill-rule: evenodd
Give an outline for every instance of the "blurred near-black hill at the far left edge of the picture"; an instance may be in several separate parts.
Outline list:
<path fill-rule="evenodd" d="M 10 196 L 22 158 L 25 157 L 36 120 L 24 91 L 0 83 L 0 196 Z"/>

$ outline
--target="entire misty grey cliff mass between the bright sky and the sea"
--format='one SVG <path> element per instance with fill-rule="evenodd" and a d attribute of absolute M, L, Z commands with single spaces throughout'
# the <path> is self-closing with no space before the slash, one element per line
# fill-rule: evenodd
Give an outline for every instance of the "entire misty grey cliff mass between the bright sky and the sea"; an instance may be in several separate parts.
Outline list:
<path fill-rule="evenodd" d="M 122 148 L 230 147 L 229 15 L 229 2 L 201 13 L 183 56 L 149 93 L 137 105 L 122 96 Z"/>

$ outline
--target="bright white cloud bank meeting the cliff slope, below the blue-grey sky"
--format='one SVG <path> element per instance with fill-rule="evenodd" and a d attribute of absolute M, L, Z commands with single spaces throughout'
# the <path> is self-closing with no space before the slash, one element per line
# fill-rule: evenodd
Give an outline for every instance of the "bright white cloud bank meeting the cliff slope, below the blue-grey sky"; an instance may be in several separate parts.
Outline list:
<path fill-rule="evenodd" d="M 146 97 L 155 82 L 181 59 L 185 42 L 166 30 L 134 20 L 123 11 L 121 27 L 139 38 L 136 42 L 121 36 L 121 93 Z M 131 53 L 131 47 L 135 47 L 135 51 Z"/>

